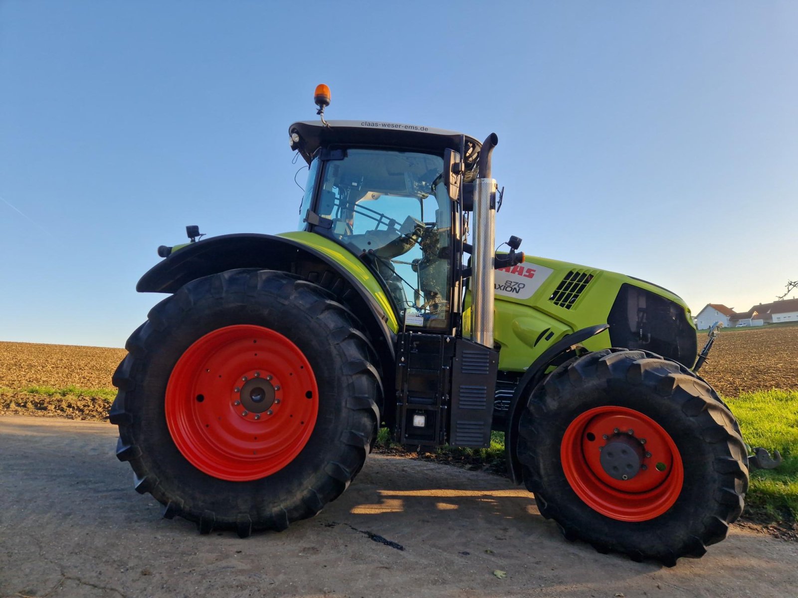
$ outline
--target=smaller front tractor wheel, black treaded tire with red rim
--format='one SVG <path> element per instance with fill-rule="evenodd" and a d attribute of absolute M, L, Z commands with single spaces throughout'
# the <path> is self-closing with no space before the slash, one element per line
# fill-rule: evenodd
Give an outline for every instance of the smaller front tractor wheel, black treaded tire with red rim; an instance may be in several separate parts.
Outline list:
<path fill-rule="evenodd" d="M 629 478 L 601 460 L 610 443 L 639 451 Z M 555 369 L 523 411 L 518 456 L 540 513 L 569 540 L 669 566 L 726 537 L 749 483 L 737 422 L 712 388 L 642 351 L 605 349 Z"/>

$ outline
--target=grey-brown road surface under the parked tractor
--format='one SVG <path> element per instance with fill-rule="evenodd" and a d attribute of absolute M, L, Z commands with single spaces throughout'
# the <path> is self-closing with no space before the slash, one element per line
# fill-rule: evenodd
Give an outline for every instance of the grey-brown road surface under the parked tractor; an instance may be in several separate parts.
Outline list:
<path fill-rule="evenodd" d="M 385 456 L 286 532 L 199 536 L 132 490 L 115 444 L 108 423 L 0 418 L 0 596 L 798 595 L 796 543 L 735 530 L 634 563 L 564 541 L 503 478 Z"/>

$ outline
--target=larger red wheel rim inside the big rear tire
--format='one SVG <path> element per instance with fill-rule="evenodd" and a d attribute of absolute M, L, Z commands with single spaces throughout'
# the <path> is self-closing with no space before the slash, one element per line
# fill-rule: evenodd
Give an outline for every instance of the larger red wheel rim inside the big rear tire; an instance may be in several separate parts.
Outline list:
<path fill-rule="evenodd" d="M 305 447 L 318 415 L 313 369 L 279 332 L 227 326 L 196 340 L 166 387 L 166 423 L 197 469 L 231 482 L 264 478 Z"/>

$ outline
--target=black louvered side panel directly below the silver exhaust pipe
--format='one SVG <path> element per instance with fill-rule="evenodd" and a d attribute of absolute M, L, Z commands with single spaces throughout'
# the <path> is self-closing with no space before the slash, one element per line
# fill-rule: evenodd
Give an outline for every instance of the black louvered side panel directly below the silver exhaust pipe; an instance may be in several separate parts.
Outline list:
<path fill-rule="evenodd" d="M 466 339 L 456 345 L 449 444 L 490 447 L 499 352 Z"/>

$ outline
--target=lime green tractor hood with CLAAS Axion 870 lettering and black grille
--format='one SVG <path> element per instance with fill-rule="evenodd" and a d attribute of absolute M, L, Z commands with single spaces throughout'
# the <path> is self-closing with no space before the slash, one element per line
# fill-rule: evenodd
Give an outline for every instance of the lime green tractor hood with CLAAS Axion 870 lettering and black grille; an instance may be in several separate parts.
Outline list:
<path fill-rule="evenodd" d="M 495 293 L 503 369 L 522 370 L 530 348 L 543 351 L 571 332 L 605 323 L 610 329 L 587 340 L 587 348 L 645 349 L 688 368 L 695 362 L 689 308 L 681 297 L 650 282 L 527 256 L 517 266 L 496 270 Z"/>

